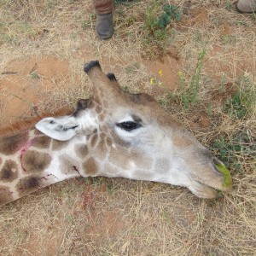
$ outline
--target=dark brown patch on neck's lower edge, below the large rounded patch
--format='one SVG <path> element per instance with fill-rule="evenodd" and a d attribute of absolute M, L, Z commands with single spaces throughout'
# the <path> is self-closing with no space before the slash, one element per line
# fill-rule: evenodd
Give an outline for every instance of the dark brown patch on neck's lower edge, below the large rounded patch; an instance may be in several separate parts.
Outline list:
<path fill-rule="evenodd" d="M 16 189 L 19 192 L 20 197 L 27 195 L 40 189 L 41 178 L 36 176 L 23 177 L 19 183 L 16 184 Z"/>

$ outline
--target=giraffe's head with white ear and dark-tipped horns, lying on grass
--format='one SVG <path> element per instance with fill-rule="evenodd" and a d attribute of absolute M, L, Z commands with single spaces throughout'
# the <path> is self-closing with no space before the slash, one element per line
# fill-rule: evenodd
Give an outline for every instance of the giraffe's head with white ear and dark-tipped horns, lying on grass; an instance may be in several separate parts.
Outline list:
<path fill-rule="evenodd" d="M 224 164 L 153 97 L 121 90 L 98 61 L 90 61 L 84 71 L 92 81 L 93 97 L 79 101 L 72 115 L 46 118 L 36 127 L 61 141 L 87 137 L 86 154 L 95 169 L 87 174 L 170 183 L 201 198 L 215 198 L 216 189 L 232 188 L 230 174 L 217 167 Z"/>

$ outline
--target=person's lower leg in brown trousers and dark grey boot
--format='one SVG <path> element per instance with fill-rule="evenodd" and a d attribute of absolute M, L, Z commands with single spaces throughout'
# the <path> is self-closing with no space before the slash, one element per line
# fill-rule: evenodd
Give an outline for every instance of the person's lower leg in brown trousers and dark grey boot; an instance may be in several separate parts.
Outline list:
<path fill-rule="evenodd" d="M 99 38 L 113 35 L 113 0 L 93 0 L 96 9 L 96 32 Z"/>

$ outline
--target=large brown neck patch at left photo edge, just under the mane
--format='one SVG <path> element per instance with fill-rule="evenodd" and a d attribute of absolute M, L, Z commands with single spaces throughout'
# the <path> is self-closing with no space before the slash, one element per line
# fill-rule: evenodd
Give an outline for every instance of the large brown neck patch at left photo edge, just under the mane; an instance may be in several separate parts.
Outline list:
<path fill-rule="evenodd" d="M 28 132 L 22 132 L 10 137 L 0 138 L 0 152 L 2 154 L 15 154 L 26 143 Z"/>

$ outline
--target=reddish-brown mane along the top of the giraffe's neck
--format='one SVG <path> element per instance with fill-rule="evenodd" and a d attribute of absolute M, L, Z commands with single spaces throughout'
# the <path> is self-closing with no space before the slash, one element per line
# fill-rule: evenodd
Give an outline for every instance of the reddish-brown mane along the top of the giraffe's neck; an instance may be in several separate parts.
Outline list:
<path fill-rule="evenodd" d="M 7 137 L 10 135 L 14 135 L 15 133 L 18 133 L 20 131 L 27 131 L 31 129 L 32 126 L 35 125 L 39 120 L 44 119 L 46 117 L 66 115 L 72 112 L 73 111 L 70 108 L 66 107 L 66 108 L 60 108 L 56 110 L 54 113 L 50 113 L 50 112 L 42 113 L 31 119 L 17 121 L 14 124 L 0 127 L 0 137 Z"/>

